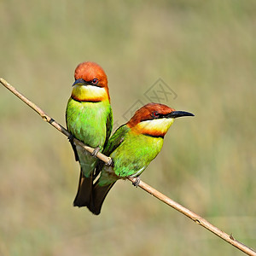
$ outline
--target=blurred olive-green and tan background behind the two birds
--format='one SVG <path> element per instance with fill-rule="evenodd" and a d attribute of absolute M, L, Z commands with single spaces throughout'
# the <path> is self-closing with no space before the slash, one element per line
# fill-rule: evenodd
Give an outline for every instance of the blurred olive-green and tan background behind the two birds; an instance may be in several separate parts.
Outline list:
<path fill-rule="evenodd" d="M 157 79 L 177 119 L 143 181 L 256 245 L 256 2 L 0 1 L 0 76 L 65 125 L 73 72 L 108 74 L 115 125 Z M 241 255 L 119 181 L 98 217 L 72 206 L 67 138 L 0 86 L 0 255 Z"/>

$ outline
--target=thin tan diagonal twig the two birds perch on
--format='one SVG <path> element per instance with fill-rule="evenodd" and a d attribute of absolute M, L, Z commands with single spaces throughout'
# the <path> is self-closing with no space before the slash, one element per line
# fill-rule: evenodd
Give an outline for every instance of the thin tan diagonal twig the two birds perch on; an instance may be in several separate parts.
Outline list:
<path fill-rule="evenodd" d="M 20 94 L 20 92 L 18 90 L 15 90 L 15 87 L 13 87 L 7 81 L 5 81 L 4 79 L 0 79 L 0 83 L 3 84 L 3 86 L 5 86 L 12 93 L 14 93 L 15 96 L 19 97 L 21 101 L 25 102 L 30 108 L 32 108 L 34 111 L 36 111 L 46 122 L 48 122 L 50 125 L 54 126 L 55 129 L 57 129 L 58 131 L 61 131 L 61 133 L 63 133 L 67 137 L 72 136 L 62 125 L 58 124 L 55 121 L 55 119 L 52 119 L 51 117 L 49 117 L 49 115 L 44 113 L 44 111 L 41 108 L 38 108 L 38 106 L 36 104 L 34 104 L 33 102 L 31 102 L 30 100 L 28 100 L 26 98 L 26 96 L 23 96 L 22 94 Z M 94 148 L 90 148 L 88 146 L 85 146 L 84 143 L 80 142 L 79 140 L 77 140 L 75 138 L 73 139 L 73 141 L 74 141 L 74 143 L 78 144 L 79 146 L 81 146 L 85 150 L 89 151 L 90 153 L 93 153 Z M 108 157 L 108 156 L 106 156 L 106 155 L 104 155 L 100 152 L 96 156 L 100 160 L 104 161 L 106 164 L 108 164 L 109 161 L 111 160 L 110 157 Z M 136 177 L 128 177 L 128 179 L 132 183 L 134 183 L 136 181 Z M 224 241 L 227 241 L 232 246 L 240 249 L 241 252 L 247 253 L 247 255 L 256 256 L 256 252 L 253 251 L 252 248 L 247 247 L 246 245 L 244 245 L 240 241 L 237 241 L 232 235 L 228 235 L 224 231 L 219 230 L 216 226 L 210 224 L 209 222 L 207 222 L 207 220 L 205 218 L 201 218 L 201 216 L 197 215 L 195 212 L 191 212 L 189 209 L 181 206 L 176 201 L 172 201 L 172 199 L 170 199 L 166 195 L 161 194 L 158 190 L 150 187 L 147 183 L 144 183 L 143 181 L 140 181 L 138 183 L 138 186 L 141 189 L 144 189 L 145 191 L 147 191 L 150 195 L 154 195 L 154 197 L 156 197 L 160 201 L 163 201 L 168 206 L 174 208 L 178 212 L 181 212 L 185 216 L 191 218 L 192 220 L 195 221 L 196 224 L 200 224 L 205 229 L 211 231 L 214 235 L 222 238 Z"/>

